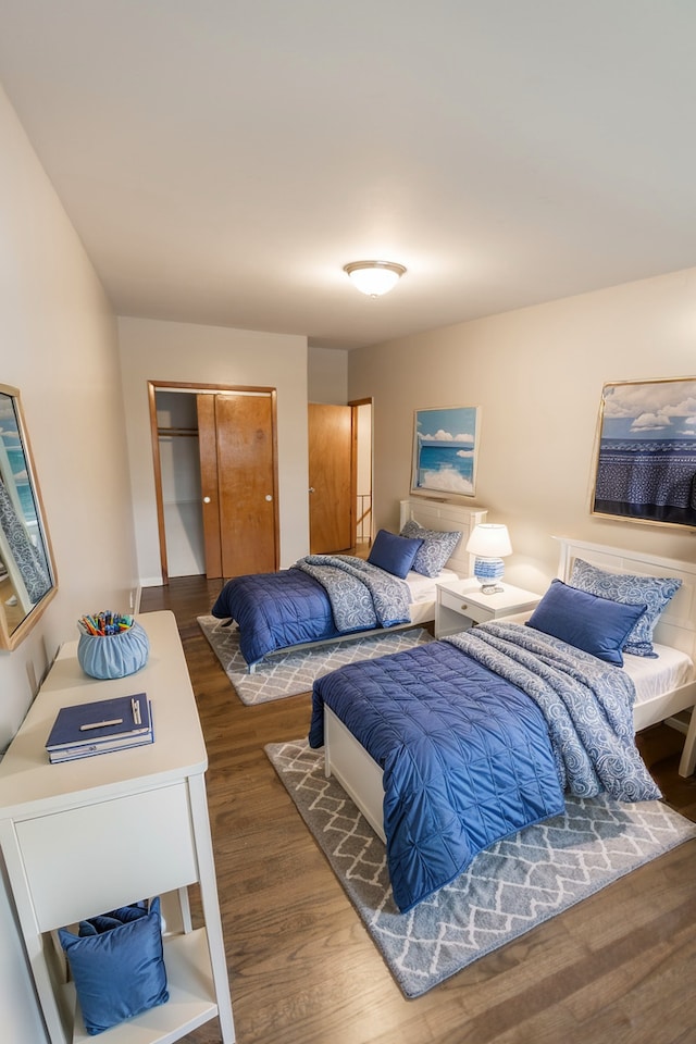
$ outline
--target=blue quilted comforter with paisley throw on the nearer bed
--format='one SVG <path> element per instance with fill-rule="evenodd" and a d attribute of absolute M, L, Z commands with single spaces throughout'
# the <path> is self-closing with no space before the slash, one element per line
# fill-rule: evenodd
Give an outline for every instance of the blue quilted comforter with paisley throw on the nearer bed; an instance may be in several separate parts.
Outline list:
<path fill-rule="evenodd" d="M 452 644 L 460 639 L 465 651 Z M 326 704 L 384 771 L 387 862 L 402 912 L 495 841 L 561 812 L 566 788 L 660 796 L 635 749 L 624 679 L 556 638 L 490 623 L 315 682 L 310 745 L 323 744 Z"/>

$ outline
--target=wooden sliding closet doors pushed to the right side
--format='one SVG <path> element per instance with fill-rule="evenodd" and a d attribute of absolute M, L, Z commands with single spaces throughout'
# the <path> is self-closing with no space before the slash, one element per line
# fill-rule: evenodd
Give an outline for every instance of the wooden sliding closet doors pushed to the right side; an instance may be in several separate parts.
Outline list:
<path fill-rule="evenodd" d="M 206 575 L 277 569 L 271 395 L 198 396 Z"/>

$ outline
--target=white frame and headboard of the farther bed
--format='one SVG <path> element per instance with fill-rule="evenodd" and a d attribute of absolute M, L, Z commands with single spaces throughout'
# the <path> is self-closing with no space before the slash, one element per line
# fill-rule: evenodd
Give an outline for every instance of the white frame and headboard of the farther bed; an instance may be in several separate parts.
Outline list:
<path fill-rule="evenodd" d="M 485 508 L 474 508 L 465 504 L 448 504 L 444 500 L 433 500 L 425 497 L 413 498 L 412 500 L 401 500 L 399 505 L 399 531 L 406 523 L 413 519 L 424 530 L 437 530 L 442 532 L 461 532 L 461 540 L 455 548 L 453 555 L 445 563 L 447 569 L 453 570 L 458 576 L 473 575 L 473 555 L 465 550 L 467 542 L 471 536 L 472 530 L 486 518 Z M 394 634 L 395 631 L 408 631 L 411 627 L 420 626 L 423 623 L 430 623 L 435 619 L 435 598 L 431 601 L 417 601 L 409 606 L 411 619 L 408 623 L 400 623 L 394 627 L 375 627 L 371 631 L 356 631 L 350 634 L 334 635 L 331 638 L 320 638 L 316 642 L 303 642 L 301 645 L 294 645 L 293 651 L 300 649 L 315 649 L 322 645 L 333 645 L 336 642 L 356 642 L 360 638 L 370 638 L 378 634 Z M 266 652 L 264 660 L 270 660 L 274 656 L 287 652 L 287 646 L 273 652 Z M 257 663 L 251 663 L 247 668 L 247 673 L 256 673 Z"/>

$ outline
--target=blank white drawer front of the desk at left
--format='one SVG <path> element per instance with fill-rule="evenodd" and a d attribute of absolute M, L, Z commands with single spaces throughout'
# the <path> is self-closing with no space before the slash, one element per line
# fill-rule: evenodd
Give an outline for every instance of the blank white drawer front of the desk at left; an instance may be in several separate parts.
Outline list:
<path fill-rule="evenodd" d="M 39 931 L 198 880 L 186 783 L 16 824 Z"/>

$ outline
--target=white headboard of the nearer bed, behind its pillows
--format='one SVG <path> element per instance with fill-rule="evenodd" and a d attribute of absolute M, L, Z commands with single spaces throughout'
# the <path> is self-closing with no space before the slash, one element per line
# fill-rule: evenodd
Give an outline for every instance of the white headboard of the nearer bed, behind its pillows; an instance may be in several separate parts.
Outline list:
<path fill-rule="evenodd" d="M 682 586 L 667 606 L 655 627 L 655 641 L 686 652 L 696 661 L 696 564 L 660 558 L 643 551 L 626 551 L 601 544 L 585 544 L 567 536 L 560 543 L 558 575 L 570 583 L 573 562 L 582 558 L 608 573 L 641 576 L 679 576 Z"/>

